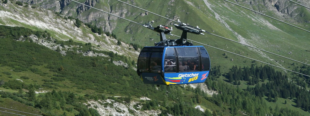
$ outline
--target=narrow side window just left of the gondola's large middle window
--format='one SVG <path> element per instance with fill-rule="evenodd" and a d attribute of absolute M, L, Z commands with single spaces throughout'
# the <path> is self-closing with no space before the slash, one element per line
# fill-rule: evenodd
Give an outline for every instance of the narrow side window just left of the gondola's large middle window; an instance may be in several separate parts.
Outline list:
<path fill-rule="evenodd" d="M 175 51 L 173 48 L 167 48 L 165 54 L 164 70 L 166 72 L 176 72 Z"/>

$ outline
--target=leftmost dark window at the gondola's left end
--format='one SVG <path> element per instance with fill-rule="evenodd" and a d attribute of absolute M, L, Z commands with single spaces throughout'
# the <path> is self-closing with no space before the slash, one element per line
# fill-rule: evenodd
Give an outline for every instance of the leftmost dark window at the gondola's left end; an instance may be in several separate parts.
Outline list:
<path fill-rule="evenodd" d="M 138 69 L 141 72 L 148 72 L 149 66 L 149 56 L 150 56 L 151 52 L 141 52 L 138 58 Z"/>

